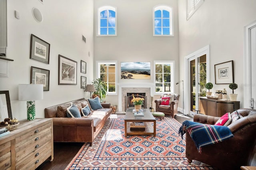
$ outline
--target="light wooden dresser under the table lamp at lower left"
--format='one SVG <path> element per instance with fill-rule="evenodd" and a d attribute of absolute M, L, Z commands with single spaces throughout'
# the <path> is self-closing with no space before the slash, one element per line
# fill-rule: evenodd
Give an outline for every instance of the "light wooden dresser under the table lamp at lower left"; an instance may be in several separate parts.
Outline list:
<path fill-rule="evenodd" d="M 20 121 L 20 126 L 0 137 L 1 170 L 34 170 L 53 160 L 52 119 Z"/>

